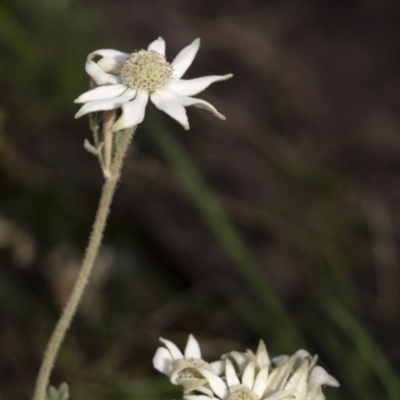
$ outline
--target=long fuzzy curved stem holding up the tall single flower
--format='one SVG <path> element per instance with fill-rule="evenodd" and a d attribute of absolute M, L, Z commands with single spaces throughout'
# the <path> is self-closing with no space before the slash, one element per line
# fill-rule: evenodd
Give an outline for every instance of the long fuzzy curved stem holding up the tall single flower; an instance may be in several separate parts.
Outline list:
<path fill-rule="evenodd" d="M 79 276 L 72 289 L 68 302 L 57 322 L 56 327 L 51 335 L 50 341 L 47 344 L 46 351 L 43 356 L 42 365 L 36 380 L 35 393 L 33 400 L 44 400 L 46 396 L 46 389 L 49 384 L 50 373 L 53 369 L 55 359 L 57 357 L 60 346 L 64 340 L 65 334 L 71 325 L 72 319 L 82 299 L 88 282 L 90 273 L 92 271 L 94 262 L 96 261 L 97 254 L 103 238 L 103 232 L 106 226 L 107 217 L 110 212 L 110 205 L 115 193 L 118 180 L 121 175 L 121 169 L 124 161 L 125 154 L 128 150 L 129 144 L 133 137 L 136 127 L 126 129 L 122 133 L 121 140 L 112 160 L 110 174 L 105 177 L 103 190 L 95 221 L 93 223 L 92 233 L 89 238 L 89 243 L 86 248 L 85 257 L 82 262 L 82 267 Z"/>

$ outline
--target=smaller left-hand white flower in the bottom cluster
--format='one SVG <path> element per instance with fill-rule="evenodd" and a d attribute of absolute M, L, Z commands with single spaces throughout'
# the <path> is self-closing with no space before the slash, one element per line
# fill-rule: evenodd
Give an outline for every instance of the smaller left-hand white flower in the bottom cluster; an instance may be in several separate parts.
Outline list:
<path fill-rule="evenodd" d="M 204 387 L 207 380 L 198 372 L 198 368 L 217 376 L 223 372 L 225 361 L 204 361 L 199 343 L 193 335 L 189 335 L 184 354 L 169 340 L 160 338 L 160 341 L 165 347 L 157 349 L 153 357 L 154 368 L 167 375 L 174 385 L 182 385 L 184 393 L 197 390 L 211 397 L 211 390 Z"/>

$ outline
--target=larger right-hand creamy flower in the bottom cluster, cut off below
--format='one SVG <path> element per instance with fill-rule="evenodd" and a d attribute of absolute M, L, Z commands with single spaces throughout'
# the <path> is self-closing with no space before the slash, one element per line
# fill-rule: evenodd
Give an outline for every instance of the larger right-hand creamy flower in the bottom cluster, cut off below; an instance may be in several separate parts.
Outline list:
<path fill-rule="evenodd" d="M 291 357 L 283 355 L 270 360 L 264 342 L 260 341 L 256 354 L 231 352 L 224 357 L 233 358 L 239 371 L 243 371 L 242 383 L 229 359 L 226 383 L 215 374 L 199 369 L 216 395 L 213 400 L 324 400 L 322 385 L 339 386 L 324 368 L 316 366 L 318 357 L 311 357 L 305 350 L 298 350 Z M 206 400 L 206 397 L 188 395 L 185 400 Z"/>

